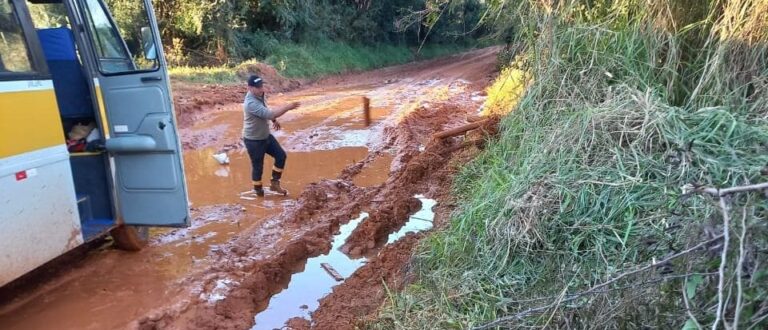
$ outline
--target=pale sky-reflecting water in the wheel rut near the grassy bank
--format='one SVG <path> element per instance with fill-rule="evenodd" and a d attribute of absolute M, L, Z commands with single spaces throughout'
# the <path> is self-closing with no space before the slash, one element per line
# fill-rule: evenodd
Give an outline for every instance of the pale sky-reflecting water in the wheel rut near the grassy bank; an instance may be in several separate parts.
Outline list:
<path fill-rule="evenodd" d="M 437 205 L 433 199 L 416 195 L 422 208 L 410 217 L 408 222 L 397 232 L 389 235 L 387 244 L 393 243 L 409 232 L 420 232 L 432 228 L 435 217 L 432 208 Z M 310 319 L 310 313 L 317 309 L 319 301 L 333 291 L 333 287 L 342 283 L 334 277 L 346 279 L 367 262 L 367 258 L 352 259 L 339 249 L 352 231 L 366 218 L 368 213 L 341 226 L 339 234 L 334 236 L 331 251 L 326 255 L 307 260 L 304 271 L 294 274 L 288 288 L 272 296 L 267 309 L 257 314 L 251 330 L 282 329 L 288 319 L 302 317 Z M 325 268 L 324 268 L 325 266 Z M 335 272 L 336 274 L 332 274 Z"/>

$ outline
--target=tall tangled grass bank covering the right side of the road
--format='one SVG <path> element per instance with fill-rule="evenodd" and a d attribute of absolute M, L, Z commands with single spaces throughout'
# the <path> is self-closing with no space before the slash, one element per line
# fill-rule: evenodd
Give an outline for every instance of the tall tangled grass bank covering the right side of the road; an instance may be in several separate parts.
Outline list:
<path fill-rule="evenodd" d="M 768 328 L 768 2 L 514 3 L 530 84 L 369 326 Z"/>

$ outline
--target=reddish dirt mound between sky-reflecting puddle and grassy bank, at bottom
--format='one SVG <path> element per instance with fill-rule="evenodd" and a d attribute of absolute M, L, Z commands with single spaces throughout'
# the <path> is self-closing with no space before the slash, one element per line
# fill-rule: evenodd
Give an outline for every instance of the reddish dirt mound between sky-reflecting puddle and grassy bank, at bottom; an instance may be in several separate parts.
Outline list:
<path fill-rule="evenodd" d="M 408 262 L 420 234 L 409 233 L 385 247 L 365 266 L 361 267 L 333 293 L 320 300 L 320 307 L 312 313 L 312 329 L 363 328 L 367 317 L 375 313 L 386 298 L 386 288 L 399 291 L 407 283 Z M 309 329 L 309 327 L 296 329 Z"/>

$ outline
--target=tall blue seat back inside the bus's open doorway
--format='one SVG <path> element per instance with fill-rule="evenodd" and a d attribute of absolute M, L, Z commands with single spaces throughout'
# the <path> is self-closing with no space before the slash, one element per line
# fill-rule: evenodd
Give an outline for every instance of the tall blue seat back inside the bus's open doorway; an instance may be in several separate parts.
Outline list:
<path fill-rule="evenodd" d="M 91 90 L 77 58 L 72 31 L 67 28 L 42 29 L 37 35 L 53 77 L 61 116 L 93 118 Z"/>

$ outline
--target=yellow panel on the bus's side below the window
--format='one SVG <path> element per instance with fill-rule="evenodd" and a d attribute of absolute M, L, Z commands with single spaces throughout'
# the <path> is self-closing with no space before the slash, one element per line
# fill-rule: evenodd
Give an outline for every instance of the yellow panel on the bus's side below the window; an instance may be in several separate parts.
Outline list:
<path fill-rule="evenodd" d="M 53 89 L 0 93 L 0 158 L 64 144 Z"/>

